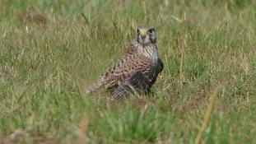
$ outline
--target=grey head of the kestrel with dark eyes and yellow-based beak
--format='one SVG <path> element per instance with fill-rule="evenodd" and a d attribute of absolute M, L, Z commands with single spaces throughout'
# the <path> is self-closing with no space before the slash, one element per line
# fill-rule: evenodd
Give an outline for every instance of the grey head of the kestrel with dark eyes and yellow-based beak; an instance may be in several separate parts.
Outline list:
<path fill-rule="evenodd" d="M 154 27 L 138 28 L 137 42 L 143 46 L 156 43 L 156 30 Z"/>

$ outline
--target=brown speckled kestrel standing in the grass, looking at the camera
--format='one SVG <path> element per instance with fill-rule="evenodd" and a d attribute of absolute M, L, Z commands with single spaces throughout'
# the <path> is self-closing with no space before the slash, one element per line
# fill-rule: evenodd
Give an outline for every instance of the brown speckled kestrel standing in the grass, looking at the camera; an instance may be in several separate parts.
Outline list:
<path fill-rule="evenodd" d="M 100 88 L 111 91 L 114 100 L 123 100 L 128 94 L 149 94 L 164 64 L 158 55 L 155 27 L 137 28 L 136 39 L 113 67 L 109 67 L 86 88 L 86 95 Z"/>

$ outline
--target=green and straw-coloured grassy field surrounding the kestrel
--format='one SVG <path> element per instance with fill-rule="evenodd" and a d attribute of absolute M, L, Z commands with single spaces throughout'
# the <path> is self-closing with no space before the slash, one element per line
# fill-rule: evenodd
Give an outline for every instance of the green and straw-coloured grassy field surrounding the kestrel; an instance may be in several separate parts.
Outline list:
<path fill-rule="evenodd" d="M 0 143 L 194 143 L 218 86 L 201 142 L 256 143 L 254 0 L 0 3 Z M 145 24 L 158 95 L 84 95 Z"/>

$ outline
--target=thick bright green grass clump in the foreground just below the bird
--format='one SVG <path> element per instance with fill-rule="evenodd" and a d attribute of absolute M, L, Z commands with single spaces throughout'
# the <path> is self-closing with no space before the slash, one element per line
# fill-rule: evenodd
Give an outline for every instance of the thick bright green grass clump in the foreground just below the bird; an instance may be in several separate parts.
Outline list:
<path fill-rule="evenodd" d="M 173 121 L 171 115 L 159 114 L 148 105 L 142 109 L 128 106 L 125 112 L 118 110 L 114 114 L 109 110 L 102 118 L 100 133 L 114 142 L 156 142 L 164 132 L 170 131 L 168 125 Z"/>

